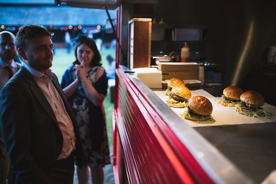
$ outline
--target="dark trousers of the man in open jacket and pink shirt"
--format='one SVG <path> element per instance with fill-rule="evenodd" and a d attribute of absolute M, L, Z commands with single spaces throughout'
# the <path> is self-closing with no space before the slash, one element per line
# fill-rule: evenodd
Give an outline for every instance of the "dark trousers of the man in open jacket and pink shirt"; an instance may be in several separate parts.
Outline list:
<path fill-rule="evenodd" d="M 69 156 L 57 160 L 47 176 L 53 184 L 73 184 L 74 179 L 74 158 Z"/>

